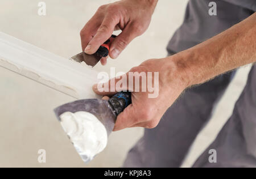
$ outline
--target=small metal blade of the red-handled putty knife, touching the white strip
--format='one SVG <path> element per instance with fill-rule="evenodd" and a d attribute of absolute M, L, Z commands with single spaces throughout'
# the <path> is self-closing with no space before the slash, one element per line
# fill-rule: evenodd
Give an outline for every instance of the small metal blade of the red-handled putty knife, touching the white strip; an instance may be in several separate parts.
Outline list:
<path fill-rule="evenodd" d="M 85 62 L 87 65 L 94 67 L 100 60 L 102 56 L 98 53 L 94 54 L 86 54 L 85 52 L 81 52 L 73 57 L 71 59 L 75 60 L 76 62 Z"/>

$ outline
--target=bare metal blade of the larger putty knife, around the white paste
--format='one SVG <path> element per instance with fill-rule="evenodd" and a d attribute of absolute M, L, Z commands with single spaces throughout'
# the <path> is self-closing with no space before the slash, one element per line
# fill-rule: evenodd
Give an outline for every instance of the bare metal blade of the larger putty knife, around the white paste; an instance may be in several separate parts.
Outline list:
<path fill-rule="evenodd" d="M 86 99 L 86 100 L 77 100 L 72 103 L 67 103 L 59 106 L 54 109 L 57 119 L 61 122 L 61 114 L 65 112 L 89 112 L 96 116 L 98 120 L 105 126 L 108 136 L 113 131 L 115 124 L 115 116 L 112 110 L 109 108 L 108 100 L 98 100 L 98 99 Z M 75 147 L 76 148 L 76 147 Z M 76 151 L 79 153 L 80 157 L 83 161 L 88 163 L 89 157 L 85 155 L 81 155 L 80 151 Z"/>

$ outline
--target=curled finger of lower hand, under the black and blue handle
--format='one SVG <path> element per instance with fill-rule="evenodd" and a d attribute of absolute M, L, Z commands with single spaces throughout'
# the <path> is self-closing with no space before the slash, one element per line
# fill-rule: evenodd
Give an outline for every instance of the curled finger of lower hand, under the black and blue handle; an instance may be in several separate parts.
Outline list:
<path fill-rule="evenodd" d="M 125 129 L 135 125 L 135 123 L 137 123 L 137 115 L 133 104 L 130 104 L 118 115 L 113 131 Z"/>

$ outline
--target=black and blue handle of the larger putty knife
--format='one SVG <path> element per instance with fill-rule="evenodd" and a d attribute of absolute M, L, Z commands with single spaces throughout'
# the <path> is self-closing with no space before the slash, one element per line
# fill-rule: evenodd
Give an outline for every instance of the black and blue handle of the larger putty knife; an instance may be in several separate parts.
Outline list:
<path fill-rule="evenodd" d="M 109 105 L 115 116 L 123 112 L 129 104 L 131 104 L 131 92 L 118 92 L 109 99 Z"/>

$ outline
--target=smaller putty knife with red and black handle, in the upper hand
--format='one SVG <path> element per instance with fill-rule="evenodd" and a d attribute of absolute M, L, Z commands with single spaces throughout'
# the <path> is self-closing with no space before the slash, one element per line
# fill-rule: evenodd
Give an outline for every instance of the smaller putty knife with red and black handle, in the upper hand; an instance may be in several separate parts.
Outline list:
<path fill-rule="evenodd" d="M 101 60 L 102 57 L 108 56 L 110 45 L 115 37 L 117 36 L 112 35 L 109 40 L 105 41 L 105 43 L 100 46 L 96 53 L 89 55 L 85 52 L 81 52 L 76 56 L 71 57 L 71 59 L 79 63 L 85 62 L 87 65 L 93 67 Z"/>

